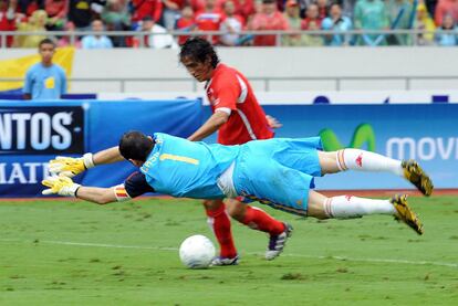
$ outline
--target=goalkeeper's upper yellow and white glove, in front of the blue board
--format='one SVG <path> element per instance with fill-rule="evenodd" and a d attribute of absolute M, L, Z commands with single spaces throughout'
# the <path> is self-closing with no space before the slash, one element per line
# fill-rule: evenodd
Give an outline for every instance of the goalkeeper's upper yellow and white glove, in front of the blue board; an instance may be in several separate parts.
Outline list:
<path fill-rule="evenodd" d="M 94 166 L 92 154 L 85 154 L 79 158 L 58 156 L 55 159 L 50 160 L 49 170 L 53 175 L 73 178 Z"/>

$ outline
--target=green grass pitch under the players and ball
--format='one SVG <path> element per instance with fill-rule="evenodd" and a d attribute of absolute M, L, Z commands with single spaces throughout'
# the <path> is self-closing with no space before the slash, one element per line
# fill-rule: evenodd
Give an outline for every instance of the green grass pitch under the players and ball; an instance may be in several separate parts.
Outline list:
<path fill-rule="evenodd" d="M 410 203 L 423 236 L 384 215 L 318 222 L 263 207 L 294 225 L 279 258 L 232 222 L 240 265 L 192 271 L 180 242 L 215 241 L 199 201 L 0 202 L 0 305 L 458 305 L 458 199 Z"/>

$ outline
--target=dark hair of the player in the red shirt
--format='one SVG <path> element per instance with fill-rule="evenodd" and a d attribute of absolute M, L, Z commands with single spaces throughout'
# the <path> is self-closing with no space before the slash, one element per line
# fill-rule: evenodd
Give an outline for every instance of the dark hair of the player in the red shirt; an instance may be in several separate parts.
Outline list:
<path fill-rule="evenodd" d="M 211 66 L 215 68 L 219 63 L 218 54 L 211 43 L 202 38 L 190 38 L 183 45 L 179 52 L 180 61 L 190 57 L 196 62 L 204 63 L 208 57 L 211 59 Z"/>

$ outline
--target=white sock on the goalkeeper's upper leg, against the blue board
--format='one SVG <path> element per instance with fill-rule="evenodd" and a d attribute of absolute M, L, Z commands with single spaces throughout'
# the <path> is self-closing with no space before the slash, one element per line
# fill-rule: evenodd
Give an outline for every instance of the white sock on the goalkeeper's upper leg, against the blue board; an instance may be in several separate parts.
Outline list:
<path fill-rule="evenodd" d="M 360 149 L 343 149 L 339 150 L 336 155 L 337 167 L 341 171 L 348 169 L 358 171 L 388 171 L 404 177 L 400 160 Z"/>

